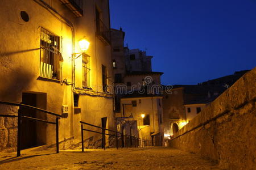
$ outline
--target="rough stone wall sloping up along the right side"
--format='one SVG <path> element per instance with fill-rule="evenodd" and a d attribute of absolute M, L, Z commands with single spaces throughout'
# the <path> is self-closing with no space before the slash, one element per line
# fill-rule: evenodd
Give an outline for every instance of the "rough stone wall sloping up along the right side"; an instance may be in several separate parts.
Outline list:
<path fill-rule="evenodd" d="M 184 126 L 169 146 L 217 162 L 223 169 L 254 169 L 256 67 Z"/>

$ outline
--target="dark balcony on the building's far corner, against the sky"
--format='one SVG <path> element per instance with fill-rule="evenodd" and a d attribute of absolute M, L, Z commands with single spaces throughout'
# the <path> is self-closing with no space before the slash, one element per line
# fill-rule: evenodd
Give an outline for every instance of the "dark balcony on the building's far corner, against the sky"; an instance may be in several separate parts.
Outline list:
<path fill-rule="evenodd" d="M 110 45 L 110 29 L 106 27 L 104 22 L 96 19 L 96 36 L 104 42 L 105 45 Z"/>

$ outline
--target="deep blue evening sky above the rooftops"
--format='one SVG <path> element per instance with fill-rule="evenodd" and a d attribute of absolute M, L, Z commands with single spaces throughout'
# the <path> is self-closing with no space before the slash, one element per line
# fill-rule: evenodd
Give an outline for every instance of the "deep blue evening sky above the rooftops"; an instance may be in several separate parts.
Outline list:
<path fill-rule="evenodd" d="M 197 84 L 256 66 L 255 0 L 110 0 L 112 28 L 154 56 L 163 84 Z"/>

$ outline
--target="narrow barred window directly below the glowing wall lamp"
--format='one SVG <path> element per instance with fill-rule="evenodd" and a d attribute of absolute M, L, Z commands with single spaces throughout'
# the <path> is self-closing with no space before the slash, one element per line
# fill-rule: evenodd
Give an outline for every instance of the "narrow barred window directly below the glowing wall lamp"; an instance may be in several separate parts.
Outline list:
<path fill-rule="evenodd" d="M 82 88 L 90 87 L 90 65 L 87 54 L 82 54 Z"/>

